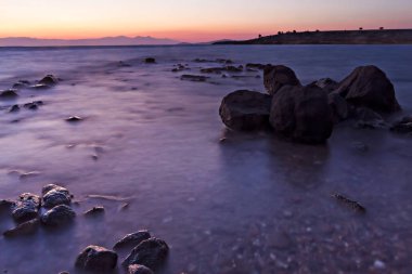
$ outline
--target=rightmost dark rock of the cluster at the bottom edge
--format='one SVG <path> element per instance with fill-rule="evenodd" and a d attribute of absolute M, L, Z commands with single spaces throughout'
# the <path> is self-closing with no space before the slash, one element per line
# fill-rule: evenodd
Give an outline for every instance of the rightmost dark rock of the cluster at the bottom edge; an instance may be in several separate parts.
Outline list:
<path fill-rule="evenodd" d="M 165 240 L 150 238 L 134 247 L 123 262 L 123 265 L 142 264 L 149 269 L 156 270 L 165 262 L 168 252 L 169 247 Z"/>

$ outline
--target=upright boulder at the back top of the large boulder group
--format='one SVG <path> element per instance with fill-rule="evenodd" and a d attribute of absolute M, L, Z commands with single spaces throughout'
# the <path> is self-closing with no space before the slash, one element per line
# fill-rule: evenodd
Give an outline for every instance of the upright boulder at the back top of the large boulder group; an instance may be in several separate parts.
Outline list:
<path fill-rule="evenodd" d="M 283 65 L 266 66 L 263 83 L 270 95 L 274 95 L 284 86 L 301 86 L 295 71 Z"/>

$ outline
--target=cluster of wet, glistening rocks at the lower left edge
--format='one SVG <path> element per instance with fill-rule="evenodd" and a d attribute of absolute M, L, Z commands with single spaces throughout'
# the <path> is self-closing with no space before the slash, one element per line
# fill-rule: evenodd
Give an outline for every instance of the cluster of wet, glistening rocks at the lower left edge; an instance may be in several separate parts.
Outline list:
<path fill-rule="evenodd" d="M 76 217 L 70 208 L 73 195 L 67 188 L 48 184 L 41 191 L 42 196 L 24 193 L 16 200 L 0 200 L 2 208 L 8 208 L 16 222 L 14 229 L 3 233 L 5 237 L 14 237 L 31 233 L 41 223 L 44 226 L 60 226 Z"/>

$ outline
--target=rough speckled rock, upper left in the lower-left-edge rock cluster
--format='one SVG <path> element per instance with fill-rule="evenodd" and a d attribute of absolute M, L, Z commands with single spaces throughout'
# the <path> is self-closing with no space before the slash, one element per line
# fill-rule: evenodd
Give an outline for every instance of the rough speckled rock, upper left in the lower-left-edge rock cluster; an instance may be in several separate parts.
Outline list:
<path fill-rule="evenodd" d="M 24 222 L 35 219 L 39 214 L 41 199 L 31 193 L 20 195 L 18 199 L 12 207 L 12 216 L 17 222 Z"/>

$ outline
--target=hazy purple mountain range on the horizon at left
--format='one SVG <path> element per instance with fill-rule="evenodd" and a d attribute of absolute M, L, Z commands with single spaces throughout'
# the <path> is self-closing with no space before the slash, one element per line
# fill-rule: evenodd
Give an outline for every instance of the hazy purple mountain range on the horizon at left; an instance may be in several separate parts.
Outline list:
<path fill-rule="evenodd" d="M 39 39 L 30 37 L 7 37 L 0 38 L 0 47 L 67 47 L 67 45 L 156 45 L 156 44 L 178 44 L 167 38 L 153 37 L 103 37 L 93 39 Z"/>

